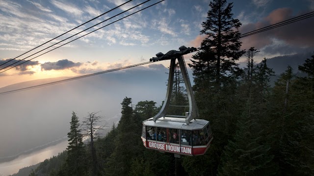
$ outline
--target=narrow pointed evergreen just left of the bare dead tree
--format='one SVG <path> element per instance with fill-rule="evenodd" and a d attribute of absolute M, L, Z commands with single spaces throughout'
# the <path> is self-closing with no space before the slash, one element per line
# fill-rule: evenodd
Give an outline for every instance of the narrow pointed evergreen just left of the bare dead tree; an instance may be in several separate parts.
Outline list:
<path fill-rule="evenodd" d="M 85 149 L 78 116 L 72 112 L 70 132 L 68 132 L 69 145 L 67 147 L 67 171 L 69 176 L 84 176 L 85 173 Z"/>

